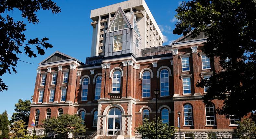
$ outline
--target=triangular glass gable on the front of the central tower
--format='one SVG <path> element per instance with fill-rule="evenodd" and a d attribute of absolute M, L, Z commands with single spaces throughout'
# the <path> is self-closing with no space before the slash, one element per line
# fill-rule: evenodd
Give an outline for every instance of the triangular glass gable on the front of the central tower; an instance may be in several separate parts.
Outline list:
<path fill-rule="evenodd" d="M 123 28 L 131 28 L 131 23 L 129 22 L 127 16 L 125 15 L 121 7 L 118 7 L 106 33 L 110 31 L 120 30 Z"/>

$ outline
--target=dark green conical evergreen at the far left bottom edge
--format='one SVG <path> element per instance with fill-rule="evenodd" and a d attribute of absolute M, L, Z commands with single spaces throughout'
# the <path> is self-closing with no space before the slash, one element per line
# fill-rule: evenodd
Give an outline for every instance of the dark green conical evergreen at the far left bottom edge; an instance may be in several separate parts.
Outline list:
<path fill-rule="evenodd" d="M 2 135 L 0 136 L 0 139 L 3 138 L 9 138 L 9 120 L 8 120 L 8 116 L 7 116 L 7 112 L 3 112 L 3 114 L 1 115 L 1 119 L 0 119 L 0 130 L 2 130 Z"/>

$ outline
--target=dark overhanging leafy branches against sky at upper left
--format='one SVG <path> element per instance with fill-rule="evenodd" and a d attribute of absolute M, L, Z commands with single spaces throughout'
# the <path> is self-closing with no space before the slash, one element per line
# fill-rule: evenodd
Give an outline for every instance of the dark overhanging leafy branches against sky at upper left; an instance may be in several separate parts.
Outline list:
<path fill-rule="evenodd" d="M 52 0 L 1 0 L 0 2 L 0 76 L 11 70 L 15 73 L 17 65 L 17 54 L 24 53 L 30 58 L 36 57 L 36 54 L 30 48 L 33 46 L 40 55 L 44 55 L 44 48 L 52 48 L 52 45 L 47 43 L 48 38 L 27 39 L 23 34 L 26 30 L 26 24 L 23 21 L 15 22 L 7 13 L 18 9 L 21 11 L 21 16 L 27 18 L 29 23 L 37 24 L 39 19 L 36 12 L 40 9 L 50 10 L 52 13 L 59 13 L 60 7 Z M 0 91 L 7 90 L 6 84 L 0 78 Z"/>

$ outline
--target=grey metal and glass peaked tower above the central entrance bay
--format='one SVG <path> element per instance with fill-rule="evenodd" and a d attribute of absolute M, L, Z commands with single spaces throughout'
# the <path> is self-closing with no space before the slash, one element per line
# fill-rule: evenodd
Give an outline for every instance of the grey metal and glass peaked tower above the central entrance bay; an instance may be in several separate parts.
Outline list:
<path fill-rule="evenodd" d="M 107 31 L 104 57 L 122 54 L 141 56 L 141 36 L 134 12 L 116 11 Z"/>

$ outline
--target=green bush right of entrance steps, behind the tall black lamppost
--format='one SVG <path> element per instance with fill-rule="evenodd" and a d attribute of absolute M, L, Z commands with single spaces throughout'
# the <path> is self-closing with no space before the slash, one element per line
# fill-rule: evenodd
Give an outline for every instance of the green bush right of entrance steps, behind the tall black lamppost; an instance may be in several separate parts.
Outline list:
<path fill-rule="evenodd" d="M 150 139 L 156 138 L 156 119 L 152 122 L 148 122 L 146 120 L 143 125 L 135 127 L 135 133 L 139 133 L 142 135 L 142 138 L 147 137 Z M 169 139 L 175 133 L 175 128 L 173 126 L 169 126 L 168 124 L 163 124 L 160 118 L 157 119 L 157 138 L 159 139 Z"/>

